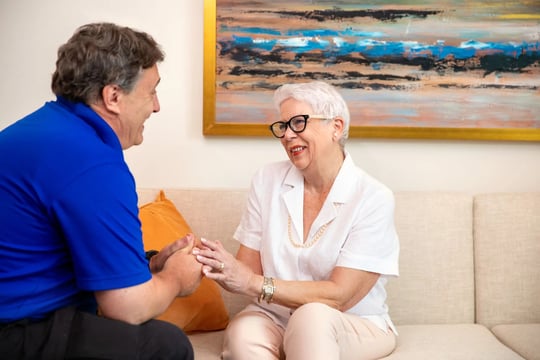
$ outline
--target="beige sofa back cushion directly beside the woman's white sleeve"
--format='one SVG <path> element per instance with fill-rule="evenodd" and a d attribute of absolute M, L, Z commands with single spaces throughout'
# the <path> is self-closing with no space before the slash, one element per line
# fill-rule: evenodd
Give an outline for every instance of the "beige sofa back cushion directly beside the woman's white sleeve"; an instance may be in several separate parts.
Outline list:
<path fill-rule="evenodd" d="M 472 196 L 398 192 L 400 276 L 387 285 L 394 323 L 474 322 Z"/>

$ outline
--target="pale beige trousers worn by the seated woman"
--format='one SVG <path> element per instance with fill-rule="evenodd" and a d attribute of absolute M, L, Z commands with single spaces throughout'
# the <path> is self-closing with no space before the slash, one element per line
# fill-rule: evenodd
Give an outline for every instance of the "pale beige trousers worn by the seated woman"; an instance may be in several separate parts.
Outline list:
<path fill-rule="evenodd" d="M 283 329 L 261 311 L 243 311 L 225 331 L 224 360 L 364 360 L 390 354 L 396 336 L 327 305 L 299 307 Z"/>

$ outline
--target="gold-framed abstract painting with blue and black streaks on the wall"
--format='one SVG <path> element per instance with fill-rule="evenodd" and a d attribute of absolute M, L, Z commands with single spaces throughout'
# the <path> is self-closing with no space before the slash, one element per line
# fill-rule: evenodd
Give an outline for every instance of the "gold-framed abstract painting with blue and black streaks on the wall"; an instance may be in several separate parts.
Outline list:
<path fill-rule="evenodd" d="M 538 1 L 205 0 L 206 135 L 270 135 L 327 81 L 351 137 L 540 140 Z"/>

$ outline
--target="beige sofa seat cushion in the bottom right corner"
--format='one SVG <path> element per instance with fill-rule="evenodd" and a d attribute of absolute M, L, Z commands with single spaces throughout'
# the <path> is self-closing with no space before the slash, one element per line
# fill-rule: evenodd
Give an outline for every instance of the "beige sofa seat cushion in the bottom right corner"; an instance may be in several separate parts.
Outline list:
<path fill-rule="evenodd" d="M 524 358 L 540 360 L 540 324 L 496 325 L 491 331 Z"/>

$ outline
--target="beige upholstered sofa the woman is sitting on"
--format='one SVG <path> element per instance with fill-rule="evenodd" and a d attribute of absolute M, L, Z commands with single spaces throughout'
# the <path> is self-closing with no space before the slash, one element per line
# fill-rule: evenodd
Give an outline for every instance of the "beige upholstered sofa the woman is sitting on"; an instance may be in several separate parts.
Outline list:
<path fill-rule="evenodd" d="M 138 189 L 139 204 L 160 189 Z M 200 237 L 223 242 L 245 189 L 163 189 Z M 540 192 L 395 193 L 400 277 L 387 285 L 399 336 L 388 360 L 540 359 Z M 251 299 L 221 290 L 230 317 Z M 223 331 L 189 333 L 195 359 L 219 359 Z"/>

